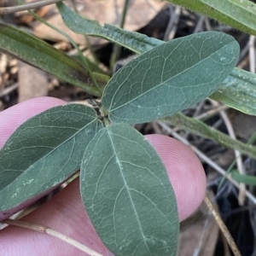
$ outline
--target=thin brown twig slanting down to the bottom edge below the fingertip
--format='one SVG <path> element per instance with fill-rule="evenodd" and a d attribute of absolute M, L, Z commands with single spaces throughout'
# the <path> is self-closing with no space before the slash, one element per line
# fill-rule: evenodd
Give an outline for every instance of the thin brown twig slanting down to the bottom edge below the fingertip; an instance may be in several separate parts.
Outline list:
<path fill-rule="evenodd" d="M 230 231 L 227 229 L 226 225 L 224 224 L 224 221 L 219 216 L 219 213 L 215 210 L 214 206 L 212 205 L 212 202 L 210 201 L 209 197 L 206 195 L 205 197 L 205 203 L 207 204 L 207 207 L 212 212 L 213 217 L 215 218 L 219 229 L 222 231 L 226 241 L 228 241 L 230 248 L 235 256 L 241 256 L 241 253 L 236 246 L 236 242 L 234 241 L 233 237 L 230 235 Z"/>

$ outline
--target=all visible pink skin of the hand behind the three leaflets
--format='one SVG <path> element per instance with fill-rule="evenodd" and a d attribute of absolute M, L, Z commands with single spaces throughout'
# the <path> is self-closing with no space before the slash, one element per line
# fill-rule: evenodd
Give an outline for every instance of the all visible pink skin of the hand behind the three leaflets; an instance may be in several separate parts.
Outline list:
<path fill-rule="evenodd" d="M 64 104 L 67 102 L 51 97 L 41 97 L 22 102 L 1 112 L 0 148 L 26 119 L 48 108 Z M 207 182 L 201 162 L 190 148 L 171 137 L 163 135 L 146 137 L 166 166 L 177 197 L 179 219 L 182 221 L 195 212 L 205 196 Z M 49 226 L 104 256 L 113 255 L 103 245 L 84 210 L 78 179 L 22 220 Z M 85 255 L 79 249 L 53 236 L 14 226 L 0 230 L 0 248 L 0 256 Z"/>

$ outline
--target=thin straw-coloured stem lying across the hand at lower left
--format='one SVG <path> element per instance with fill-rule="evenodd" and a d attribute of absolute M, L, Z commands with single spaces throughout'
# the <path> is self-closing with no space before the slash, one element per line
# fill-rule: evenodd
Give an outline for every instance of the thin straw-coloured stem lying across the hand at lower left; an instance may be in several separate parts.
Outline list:
<path fill-rule="evenodd" d="M 73 247 L 77 247 L 77 248 L 79 248 L 79 250 L 83 251 L 84 253 L 88 253 L 91 256 L 102 256 L 102 254 L 96 253 L 94 250 L 90 249 L 89 247 L 85 247 L 79 241 L 75 241 L 73 238 L 65 236 L 65 235 L 61 234 L 60 232 L 50 229 L 49 227 L 44 226 L 44 225 L 32 224 L 32 223 L 29 223 L 26 221 L 10 219 L 10 218 L 4 219 L 2 221 L 2 223 L 13 225 L 13 226 L 18 226 L 18 227 L 25 228 L 28 230 L 36 230 L 41 233 L 46 233 L 50 236 L 55 236 L 55 237 L 61 239 L 62 241 L 66 241 L 67 243 L 73 245 Z"/>

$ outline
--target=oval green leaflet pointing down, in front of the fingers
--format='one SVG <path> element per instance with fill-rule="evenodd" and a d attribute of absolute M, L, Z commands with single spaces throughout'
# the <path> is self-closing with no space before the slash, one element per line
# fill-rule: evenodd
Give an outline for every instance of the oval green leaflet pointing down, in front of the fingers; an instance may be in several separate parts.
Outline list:
<path fill-rule="evenodd" d="M 174 192 L 160 157 L 129 125 L 103 128 L 85 149 L 80 174 L 84 205 L 114 255 L 177 253 Z"/>

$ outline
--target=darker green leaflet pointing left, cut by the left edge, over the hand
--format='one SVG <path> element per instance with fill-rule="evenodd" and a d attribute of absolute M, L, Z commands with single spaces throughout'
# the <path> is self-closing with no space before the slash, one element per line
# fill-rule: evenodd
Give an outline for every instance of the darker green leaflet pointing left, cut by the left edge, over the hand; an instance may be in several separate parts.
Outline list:
<path fill-rule="evenodd" d="M 76 172 L 101 128 L 96 111 L 79 104 L 51 108 L 20 125 L 0 150 L 0 220 Z"/>

